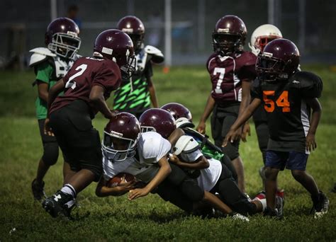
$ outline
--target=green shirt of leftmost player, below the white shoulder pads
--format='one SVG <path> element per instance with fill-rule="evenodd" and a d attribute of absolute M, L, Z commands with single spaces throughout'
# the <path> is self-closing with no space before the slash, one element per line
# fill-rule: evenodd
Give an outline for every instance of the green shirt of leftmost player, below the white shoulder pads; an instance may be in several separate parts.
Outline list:
<path fill-rule="evenodd" d="M 35 66 L 36 80 L 47 83 L 48 91 L 57 82 L 57 80 L 55 80 L 55 75 L 53 75 L 53 71 L 54 69 L 52 65 L 47 61 Z M 39 96 L 35 100 L 35 110 L 38 120 L 42 120 L 47 117 L 47 102 Z"/>

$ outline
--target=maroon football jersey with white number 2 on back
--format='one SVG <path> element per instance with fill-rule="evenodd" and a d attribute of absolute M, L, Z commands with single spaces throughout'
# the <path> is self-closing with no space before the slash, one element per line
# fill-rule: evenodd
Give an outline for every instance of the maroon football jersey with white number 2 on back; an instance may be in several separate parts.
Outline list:
<path fill-rule="evenodd" d="M 121 84 L 121 70 L 111 59 L 82 57 L 74 62 L 63 81 L 65 83 L 64 95 L 54 100 L 50 113 L 77 99 L 90 104 L 89 96 L 92 86 L 102 86 L 105 90 L 105 99 L 109 98 L 111 91 L 116 90 Z M 92 109 L 92 113 L 96 111 Z"/>

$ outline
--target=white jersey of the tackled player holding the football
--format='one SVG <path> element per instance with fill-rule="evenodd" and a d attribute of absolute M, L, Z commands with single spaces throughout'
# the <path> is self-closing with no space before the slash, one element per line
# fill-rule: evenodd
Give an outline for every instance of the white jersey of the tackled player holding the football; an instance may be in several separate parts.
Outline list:
<path fill-rule="evenodd" d="M 109 180 L 118 173 L 130 173 L 138 180 L 149 183 L 159 171 L 157 162 L 166 156 L 171 149 L 167 139 L 157 132 L 145 132 L 138 141 L 138 158 L 111 162 L 103 156 L 103 178 Z"/>

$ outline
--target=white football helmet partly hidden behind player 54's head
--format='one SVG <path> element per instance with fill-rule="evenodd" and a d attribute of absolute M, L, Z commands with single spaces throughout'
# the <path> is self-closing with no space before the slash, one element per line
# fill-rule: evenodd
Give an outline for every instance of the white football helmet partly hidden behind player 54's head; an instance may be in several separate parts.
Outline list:
<path fill-rule="evenodd" d="M 260 25 L 253 31 L 249 47 L 253 54 L 258 55 L 268 42 L 278 38 L 282 38 L 279 28 L 271 24 Z"/>

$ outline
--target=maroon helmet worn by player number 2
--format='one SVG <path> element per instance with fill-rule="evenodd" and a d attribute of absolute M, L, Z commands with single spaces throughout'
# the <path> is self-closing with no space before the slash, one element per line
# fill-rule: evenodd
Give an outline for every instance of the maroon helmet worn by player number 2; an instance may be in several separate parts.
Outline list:
<path fill-rule="evenodd" d="M 135 71 L 133 42 L 121 30 L 101 32 L 94 42 L 94 57 L 112 59 L 128 77 Z"/>

